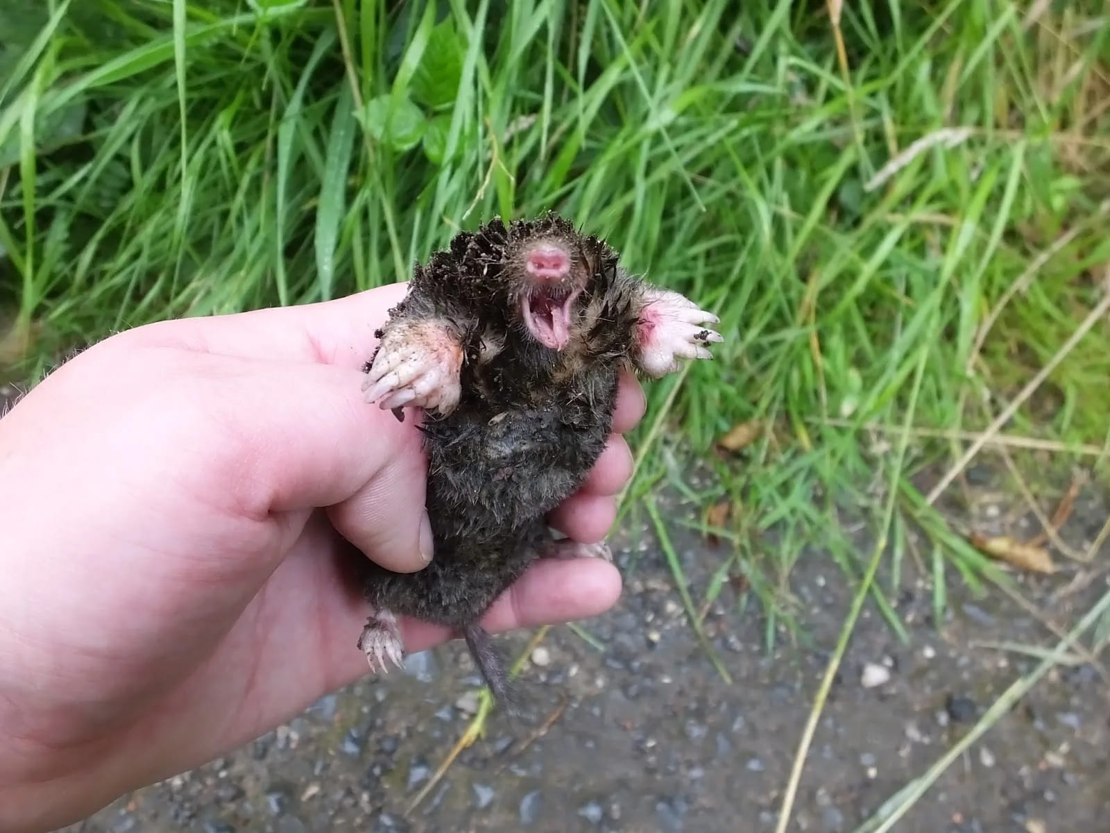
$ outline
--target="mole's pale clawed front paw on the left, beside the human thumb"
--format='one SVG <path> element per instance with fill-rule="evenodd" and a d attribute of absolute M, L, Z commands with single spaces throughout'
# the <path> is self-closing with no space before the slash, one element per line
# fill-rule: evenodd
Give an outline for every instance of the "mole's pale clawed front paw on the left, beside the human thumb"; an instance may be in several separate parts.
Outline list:
<path fill-rule="evenodd" d="M 458 404 L 463 348 L 443 321 L 402 321 L 389 328 L 362 384 L 382 410 L 413 405 L 448 414 Z"/>

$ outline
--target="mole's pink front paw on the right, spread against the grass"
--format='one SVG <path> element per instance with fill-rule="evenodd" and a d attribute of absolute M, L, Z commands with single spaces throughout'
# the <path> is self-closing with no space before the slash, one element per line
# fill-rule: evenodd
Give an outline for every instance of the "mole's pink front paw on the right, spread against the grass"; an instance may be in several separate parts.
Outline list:
<path fill-rule="evenodd" d="M 649 288 L 639 312 L 636 365 L 649 377 L 665 377 L 679 368 L 679 359 L 712 359 L 706 344 L 724 341 L 704 327 L 720 319 L 670 290 Z"/>

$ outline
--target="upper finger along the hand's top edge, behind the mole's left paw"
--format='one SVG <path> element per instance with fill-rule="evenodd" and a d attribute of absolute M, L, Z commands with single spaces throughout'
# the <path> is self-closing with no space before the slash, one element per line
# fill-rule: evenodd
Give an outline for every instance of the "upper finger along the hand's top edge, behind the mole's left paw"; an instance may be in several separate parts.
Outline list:
<path fill-rule="evenodd" d="M 161 321 L 110 341 L 362 369 L 377 343 L 374 331 L 407 291 L 407 283 L 391 283 L 334 301 Z"/>

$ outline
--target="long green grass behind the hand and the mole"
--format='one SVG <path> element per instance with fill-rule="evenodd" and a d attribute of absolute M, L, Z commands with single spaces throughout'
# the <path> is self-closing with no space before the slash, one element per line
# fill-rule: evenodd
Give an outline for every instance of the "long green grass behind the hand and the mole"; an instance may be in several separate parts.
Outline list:
<path fill-rule="evenodd" d="M 662 484 L 733 501 L 708 586 L 670 561 L 692 614 L 744 573 L 768 642 L 807 545 L 899 634 L 879 559 L 891 586 L 931 571 L 938 611 L 952 574 L 1005 585 L 920 489 L 967 443 L 919 429 L 981 432 L 1053 363 L 1005 431 L 1110 445 L 1107 317 L 1060 355 L 1110 262 L 1099 3 L 848 3 L 842 62 L 820 2 L 39 6 L 0 0 L 10 375 L 403 279 L 461 227 L 556 209 L 720 314 L 717 361 L 650 388 L 624 511 Z M 770 428 L 713 453 L 747 420 Z M 1104 476 L 1050 458 L 1077 460 Z M 884 546 L 858 551 L 847 508 Z"/>

